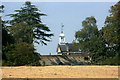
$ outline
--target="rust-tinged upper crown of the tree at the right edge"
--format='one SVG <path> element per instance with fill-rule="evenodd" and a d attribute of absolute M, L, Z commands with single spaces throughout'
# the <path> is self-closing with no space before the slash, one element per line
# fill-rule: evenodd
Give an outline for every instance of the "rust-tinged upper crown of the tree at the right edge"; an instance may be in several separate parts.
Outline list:
<path fill-rule="evenodd" d="M 110 16 L 106 17 L 104 37 L 109 47 L 114 47 L 120 53 L 120 1 L 109 10 Z"/>

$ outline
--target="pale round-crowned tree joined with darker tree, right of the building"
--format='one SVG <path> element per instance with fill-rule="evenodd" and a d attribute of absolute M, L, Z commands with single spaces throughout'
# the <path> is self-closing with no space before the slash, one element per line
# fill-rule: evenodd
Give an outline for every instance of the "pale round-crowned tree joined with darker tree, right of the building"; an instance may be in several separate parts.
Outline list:
<path fill-rule="evenodd" d="M 89 52 L 92 64 L 99 64 L 106 58 L 103 31 L 98 31 L 96 19 L 91 16 L 82 22 L 83 28 L 75 33 L 76 39 L 82 50 Z"/>

